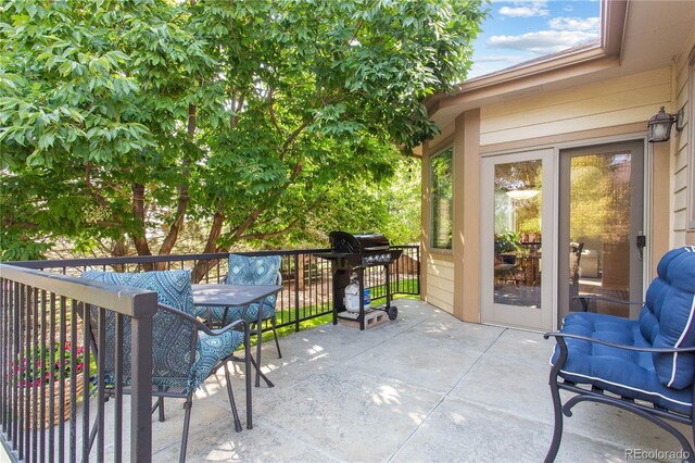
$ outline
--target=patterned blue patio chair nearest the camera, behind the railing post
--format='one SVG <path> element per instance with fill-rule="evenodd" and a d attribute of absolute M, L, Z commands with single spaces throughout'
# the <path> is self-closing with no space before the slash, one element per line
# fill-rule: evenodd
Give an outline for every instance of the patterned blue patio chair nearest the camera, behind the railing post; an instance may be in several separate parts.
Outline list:
<path fill-rule="evenodd" d="M 241 431 L 241 422 L 237 413 L 231 387 L 231 376 L 227 366 L 228 361 L 243 361 L 247 372 L 247 427 L 251 429 L 251 354 L 244 349 L 244 358 L 233 356 L 235 350 L 249 341 L 249 327 L 244 321 L 237 321 L 222 329 L 211 329 L 193 316 L 193 293 L 191 290 L 190 271 L 143 272 L 143 273 L 109 273 L 88 271 L 83 278 L 108 283 L 117 286 L 128 286 L 149 289 L 157 292 L 159 310 L 152 320 L 152 396 L 157 398 L 152 413 L 159 409 L 161 422 L 164 416 L 164 398 L 185 399 L 184 431 L 179 461 L 186 460 L 188 429 L 192 405 L 193 391 L 208 376 L 220 366 L 225 368 L 227 393 L 235 421 L 235 428 Z M 92 340 L 98 341 L 99 333 L 98 311 L 89 308 L 89 325 Z M 242 329 L 242 330 L 239 330 Z M 114 395 L 115 386 L 115 314 L 106 311 L 105 315 L 105 362 L 99 368 L 105 375 L 106 397 Z M 94 346 L 94 343 L 92 343 Z M 124 323 L 123 359 L 125 377 L 123 392 L 131 393 L 130 386 L 130 324 Z M 91 433 L 91 443 L 96 436 L 97 426 Z"/>

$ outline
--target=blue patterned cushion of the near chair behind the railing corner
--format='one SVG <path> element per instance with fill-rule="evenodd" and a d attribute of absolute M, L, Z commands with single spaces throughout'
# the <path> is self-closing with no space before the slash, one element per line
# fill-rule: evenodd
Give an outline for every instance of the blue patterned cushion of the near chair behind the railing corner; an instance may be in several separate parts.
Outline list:
<path fill-rule="evenodd" d="M 157 302 L 181 312 L 193 314 L 193 292 L 190 271 L 114 273 L 88 271 L 83 278 L 156 291 Z M 93 311 L 92 311 L 93 312 Z M 92 326 L 96 326 L 96 313 L 92 313 Z M 124 355 L 130 358 L 130 324 L 124 324 Z M 191 364 L 191 337 L 193 326 L 176 314 L 157 311 L 152 318 L 153 325 L 153 366 L 152 383 L 154 389 L 167 388 L 188 393 L 200 386 L 216 364 L 231 355 L 243 342 L 240 331 L 227 331 L 219 336 L 199 333 L 195 360 Z M 114 330 L 114 314 L 106 311 L 106 330 Z M 108 336 L 105 374 L 114 374 L 114 337 Z M 129 368 L 127 368 L 129 370 Z M 126 379 L 129 384 L 129 379 Z"/>

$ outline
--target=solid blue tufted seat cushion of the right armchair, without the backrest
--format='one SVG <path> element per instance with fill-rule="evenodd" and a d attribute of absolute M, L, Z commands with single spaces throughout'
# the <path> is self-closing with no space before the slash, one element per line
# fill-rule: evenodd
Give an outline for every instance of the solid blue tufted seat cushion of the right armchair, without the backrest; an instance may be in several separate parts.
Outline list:
<path fill-rule="evenodd" d="M 649 347 L 637 321 L 596 313 L 573 313 L 565 318 L 563 333 L 627 346 Z M 596 385 L 607 391 L 646 400 L 669 410 L 690 413 L 692 390 L 674 389 L 659 380 L 652 353 L 633 352 L 595 342 L 567 338 L 568 356 L 560 376 L 577 384 Z M 557 360 L 555 348 L 551 363 Z"/>

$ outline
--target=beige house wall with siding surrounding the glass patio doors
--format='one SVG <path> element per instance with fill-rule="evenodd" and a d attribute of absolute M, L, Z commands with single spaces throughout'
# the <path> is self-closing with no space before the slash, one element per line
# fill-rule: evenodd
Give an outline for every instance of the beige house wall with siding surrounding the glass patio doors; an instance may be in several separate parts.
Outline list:
<path fill-rule="evenodd" d="M 687 66 L 685 66 L 687 67 Z M 594 145 L 611 138 L 646 136 L 646 121 L 659 107 L 674 112 L 675 66 L 632 74 L 558 91 L 543 87 L 506 101 L 482 105 L 460 114 L 440 137 L 424 147 L 422 248 L 427 262 L 424 299 L 460 320 L 480 322 L 480 160 L 486 155 L 538 148 Z M 679 78 L 679 95 L 687 85 Z M 681 74 L 679 74 L 680 76 Z M 679 101 L 679 104 L 680 101 Z M 680 143 L 684 137 L 681 135 Z M 429 157 L 454 147 L 454 240 L 451 252 L 429 249 Z M 680 146 L 680 145 L 679 145 Z M 686 233 L 685 185 L 691 171 L 687 155 L 673 155 L 675 143 L 649 143 L 652 162 L 652 224 L 679 223 L 680 241 L 695 241 Z M 680 147 L 680 150 L 685 148 Z M 680 174 L 674 166 L 678 158 Z M 426 172 L 427 171 L 427 172 Z M 678 199 L 672 191 L 680 192 Z M 670 208 L 662 204 L 671 202 Z M 680 218 L 679 218 L 680 217 Z M 675 227 L 672 227 L 674 229 Z M 675 232 L 647 228 L 652 262 L 677 243 Z M 690 238 L 688 238 L 690 239 Z M 654 272 L 654 267 L 652 272 Z"/>

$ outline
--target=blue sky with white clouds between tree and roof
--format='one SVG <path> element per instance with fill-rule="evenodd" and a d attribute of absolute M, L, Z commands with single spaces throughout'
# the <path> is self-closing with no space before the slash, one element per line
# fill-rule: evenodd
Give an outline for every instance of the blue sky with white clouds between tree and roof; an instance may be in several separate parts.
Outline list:
<path fill-rule="evenodd" d="M 493 0 L 468 78 L 597 39 L 599 7 L 598 0 Z"/>

